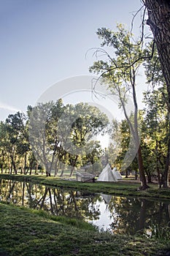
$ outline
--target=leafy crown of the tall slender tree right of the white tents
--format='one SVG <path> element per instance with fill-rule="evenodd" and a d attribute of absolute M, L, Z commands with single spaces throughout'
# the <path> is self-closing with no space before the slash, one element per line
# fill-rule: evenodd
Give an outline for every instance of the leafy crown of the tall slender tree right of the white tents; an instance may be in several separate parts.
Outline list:
<path fill-rule="evenodd" d="M 121 86 L 122 90 L 129 90 L 133 72 L 136 72 L 142 63 L 141 45 L 138 45 L 138 42 L 133 43 L 132 34 L 122 24 L 117 25 L 117 31 L 101 28 L 96 34 L 101 39 L 101 49 L 96 50 L 96 54 L 104 53 L 105 59 L 95 61 L 90 67 L 90 72 L 108 78 L 107 83 L 112 85 L 114 91 L 118 91 L 117 85 Z M 112 56 L 109 50 L 103 50 L 104 46 L 112 48 Z"/>

